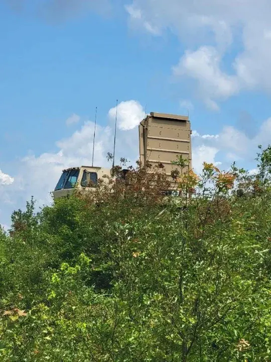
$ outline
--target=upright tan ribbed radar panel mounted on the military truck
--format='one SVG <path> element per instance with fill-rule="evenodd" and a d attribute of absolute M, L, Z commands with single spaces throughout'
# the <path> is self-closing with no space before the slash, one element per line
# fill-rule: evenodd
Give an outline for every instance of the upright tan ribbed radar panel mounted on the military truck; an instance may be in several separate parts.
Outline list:
<path fill-rule="evenodd" d="M 192 168 L 191 127 L 187 116 L 152 112 L 139 126 L 140 161 L 152 166 L 162 163 L 168 175 L 176 166 L 171 161 L 182 155 Z M 184 170 L 185 171 L 185 170 Z"/>

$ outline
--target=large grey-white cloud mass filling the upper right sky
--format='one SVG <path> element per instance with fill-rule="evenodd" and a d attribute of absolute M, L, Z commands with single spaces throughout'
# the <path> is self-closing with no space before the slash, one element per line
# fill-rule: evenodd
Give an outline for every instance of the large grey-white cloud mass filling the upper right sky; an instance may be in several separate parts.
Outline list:
<path fill-rule="evenodd" d="M 242 89 L 271 91 L 268 0 L 133 0 L 126 10 L 133 25 L 148 31 L 148 19 L 157 34 L 179 37 L 187 50 L 173 73 L 193 79 L 208 108 Z"/>

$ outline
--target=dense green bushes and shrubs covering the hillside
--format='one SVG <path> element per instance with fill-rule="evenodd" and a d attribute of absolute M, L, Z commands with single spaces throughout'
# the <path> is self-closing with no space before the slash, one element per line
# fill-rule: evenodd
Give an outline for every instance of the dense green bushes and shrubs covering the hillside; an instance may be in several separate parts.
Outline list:
<path fill-rule="evenodd" d="M 12 215 L 0 230 L 2 362 L 271 361 L 271 148 Z M 152 184 L 152 187 L 150 187 Z M 176 201 L 178 200 L 178 202 Z"/>

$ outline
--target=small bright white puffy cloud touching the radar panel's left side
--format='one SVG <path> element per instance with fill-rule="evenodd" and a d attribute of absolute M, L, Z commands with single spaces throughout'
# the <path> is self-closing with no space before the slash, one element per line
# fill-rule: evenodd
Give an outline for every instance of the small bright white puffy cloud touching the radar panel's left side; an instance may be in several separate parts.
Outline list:
<path fill-rule="evenodd" d="M 111 108 L 108 115 L 111 120 L 115 120 L 116 107 Z M 121 102 L 117 107 L 117 127 L 122 131 L 137 127 L 144 117 L 144 109 L 137 101 Z"/>

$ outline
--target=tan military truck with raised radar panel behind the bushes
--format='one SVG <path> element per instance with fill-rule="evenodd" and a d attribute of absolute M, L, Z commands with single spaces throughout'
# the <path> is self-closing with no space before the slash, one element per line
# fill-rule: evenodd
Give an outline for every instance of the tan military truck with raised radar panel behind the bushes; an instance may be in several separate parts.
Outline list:
<path fill-rule="evenodd" d="M 192 167 L 191 155 L 191 127 L 187 116 L 178 116 L 152 112 L 139 125 L 140 161 L 142 166 L 149 162 L 152 166 L 163 165 L 171 186 L 169 190 L 162 190 L 166 195 L 178 196 L 172 171 L 176 166 L 172 164 L 178 156 L 187 160 L 185 170 Z M 113 162 L 114 165 L 114 162 Z M 184 171 L 185 171 L 184 170 Z M 127 170 L 123 170 L 123 178 Z M 153 171 L 153 167 L 150 168 Z M 112 168 L 79 166 L 63 170 L 54 190 L 54 199 L 67 197 L 75 186 L 82 192 L 95 190 L 98 179 L 109 178 L 116 180 Z"/>

